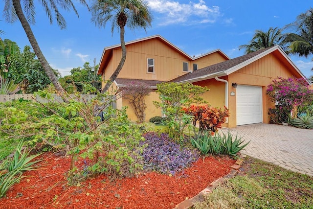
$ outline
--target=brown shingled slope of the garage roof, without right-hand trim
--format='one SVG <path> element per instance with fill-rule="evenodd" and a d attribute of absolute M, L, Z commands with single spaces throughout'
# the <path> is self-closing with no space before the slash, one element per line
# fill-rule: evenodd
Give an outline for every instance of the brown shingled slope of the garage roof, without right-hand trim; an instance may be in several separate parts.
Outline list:
<path fill-rule="evenodd" d="M 274 46 L 272 46 L 274 47 Z M 269 47 L 271 48 L 271 47 Z M 183 82 L 183 81 L 187 81 L 187 80 L 192 80 L 194 78 L 198 78 L 201 76 L 206 76 L 206 75 L 214 75 L 214 74 L 218 74 L 218 73 L 223 73 L 225 70 L 228 70 L 234 66 L 237 66 L 249 59 L 251 59 L 252 57 L 257 56 L 258 54 L 261 54 L 262 52 L 268 50 L 269 48 L 264 48 L 231 60 L 226 60 L 224 62 L 221 63 L 217 63 L 214 65 L 210 65 L 208 67 L 205 68 L 201 68 L 199 70 L 195 70 L 193 72 L 184 74 L 182 76 L 179 76 L 173 80 L 171 80 L 170 82 Z M 225 72 L 226 75 L 226 72 Z"/>

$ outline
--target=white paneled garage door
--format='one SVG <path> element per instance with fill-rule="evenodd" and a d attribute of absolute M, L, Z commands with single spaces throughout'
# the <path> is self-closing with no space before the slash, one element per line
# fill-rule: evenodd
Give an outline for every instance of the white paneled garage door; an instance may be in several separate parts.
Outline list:
<path fill-rule="evenodd" d="M 262 87 L 238 85 L 237 125 L 262 122 Z"/>

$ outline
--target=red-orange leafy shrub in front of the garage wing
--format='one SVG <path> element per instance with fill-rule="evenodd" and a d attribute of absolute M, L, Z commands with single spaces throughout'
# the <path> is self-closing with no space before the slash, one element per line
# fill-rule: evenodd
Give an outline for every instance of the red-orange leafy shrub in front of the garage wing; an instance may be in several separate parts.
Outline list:
<path fill-rule="evenodd" d="M 182 109 L 187 115 L 194 116 L 193 124 L 196 126 L 199 121 L 199 131 L 217 132 L 218 128 L 222 128 L 222 124 L 226 122 L 229 116 L 229 110 L 224 106 L 222 108 L 210 107 L 209 105 L 190 105 Z"/>

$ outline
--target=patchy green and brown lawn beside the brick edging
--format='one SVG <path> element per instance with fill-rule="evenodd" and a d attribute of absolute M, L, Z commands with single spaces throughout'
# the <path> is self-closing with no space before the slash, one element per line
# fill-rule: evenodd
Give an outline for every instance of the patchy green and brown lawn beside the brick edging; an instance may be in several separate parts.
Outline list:
<path fill-rule="evenodd" d="M 247 157 L 235 178 L 194 209 L 313 209 L 313 177 Z"/>

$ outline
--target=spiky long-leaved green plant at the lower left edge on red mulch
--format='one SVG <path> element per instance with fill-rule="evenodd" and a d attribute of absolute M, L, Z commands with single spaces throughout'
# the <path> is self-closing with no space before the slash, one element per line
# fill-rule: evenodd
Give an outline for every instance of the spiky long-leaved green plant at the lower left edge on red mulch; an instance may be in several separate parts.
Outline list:
<path fill-rule="evenodd" d="M 7 190 L 22 178 L 24 171 L 38 169 L 39 166 L 34 165 L 40 160 L 34 161 L 41 154 L 30 155 L 27 147 L 24 147 L 24 142 L 21 140 L 17 145 L 14 155 L 7 158 L 0 164 L 0 197 L 4 197 Z"/>

